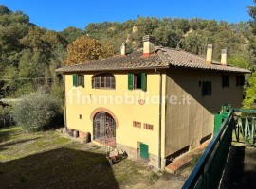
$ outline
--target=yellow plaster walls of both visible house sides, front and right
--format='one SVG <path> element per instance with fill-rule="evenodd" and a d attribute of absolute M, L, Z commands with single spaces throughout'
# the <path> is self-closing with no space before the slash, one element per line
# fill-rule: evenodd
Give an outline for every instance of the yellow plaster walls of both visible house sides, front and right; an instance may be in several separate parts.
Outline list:
<path fill-rule="evenodd" d="M 142 73 L 136 71 L 129 73 Z M 162 74 L 147 73 L 147 91 L 128 90 L 128 72 L 111 72 L 116 78 L 116 89 L 93 89 L 92 77 L 99 73 L 84 75 L 84 88 L 73 87 L 72 74 L 64 75 L 65 125 L 68 129 L 89 132 L 93 139 L 92 113 L 107 109 L 117 120 L 116 143 L 127 146 L 137 153 L 137 143 L 147 144 L 149 162 L 157 166 L 159 150 L 162 168 L 165 158 L 183 147 L 198 146 L 200 141 L 213 132 L 214 116 L 225 103 L 240 107 L 243 87 L 235 85 L 236 76 L 230 74 L 229 88 L 222 88 L 222 73 L 190 70 L 166 70 Z M 159 95 L 162 77 L 161 105 L 161 147 L 159 149 Z M 212 95 L 202 97 L 199 81 L 212 82 Z M 232 95 L 230 95 L 232 94 Z M 178 96 L 177 103 L 183 103 L 183 96 L 189 96 L 191 104 L 170 104 L 166 96 Z M 134 102 L 131 102 L 131 98 Z M 141 103 L 141 100 L 143 103 Z M 140 103 L 139 103 L 140 102 Z M 141 122 L 141 128 L 133 126 L 133 121 Z M 143 124 L 151 124 L 153 130 L 144 129 Z M 124 149 L 126 149 L 124 147 Z M 130 155 L 130 154 L 128 154 Z M 132 155 L 131 155 L 132 156 Z M 133 157 L 133 156 L 132 156 Z M 134 155 L 134 158 L 137 158 Z"/>

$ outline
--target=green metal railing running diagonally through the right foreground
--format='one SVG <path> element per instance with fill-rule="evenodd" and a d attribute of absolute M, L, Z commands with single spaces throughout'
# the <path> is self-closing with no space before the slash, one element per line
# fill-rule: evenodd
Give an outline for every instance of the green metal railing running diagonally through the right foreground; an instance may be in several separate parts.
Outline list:
<path fill-rule="evenodd" d="M 232 142 L 233 112 L 233 110 L 230 110 L 220 129 L 214 134 L 210 145 L 206 148 L 192 170 L 192 174 L 183 185 L 183 189 L 219 187 Z"/>

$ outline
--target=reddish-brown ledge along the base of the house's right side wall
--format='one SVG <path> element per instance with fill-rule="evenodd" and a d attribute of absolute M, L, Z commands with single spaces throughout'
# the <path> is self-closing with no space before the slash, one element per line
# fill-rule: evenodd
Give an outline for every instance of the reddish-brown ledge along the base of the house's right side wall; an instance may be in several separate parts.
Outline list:
<path fill-rule="evenodd" d="M 176 158 L 174 162 L 170 163 L 165 167 L 165 170 L 169 173 L 177 173 L 179 170 L 184 168 L 192 159 L 200 154 L 207 148 L 210 144 L 210 140 L 206 141 L 200 146 L 195 147 L 191 151 L 181 155 L 180 157 Z"/>

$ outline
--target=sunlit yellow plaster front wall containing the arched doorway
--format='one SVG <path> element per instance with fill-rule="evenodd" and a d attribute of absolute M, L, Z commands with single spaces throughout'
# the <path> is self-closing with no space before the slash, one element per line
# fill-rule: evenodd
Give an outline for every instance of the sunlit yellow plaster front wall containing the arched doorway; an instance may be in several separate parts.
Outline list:
<path fill-rule="evenodd" d="M 137 149 L 137 142 L 141 142 L 149 146 L 150 154 L 158 156 L 160 75 L 154 72 L 147 73 L 147 91 L 143 92 L 142 90 L 128 90 L 128 73 L 113 74 L 116 77 L 116 89 L 114 90 L 92 89 L 91 80 L 94 74 L 84 73 L 84 88 L 73 87 L 71 74 L 64 76 L 66 127 L 90 132 L 93 135 L 91 113 L 98 108 L 104 108 L 113 112 L 117 117 L 117 144 Z M 165 78 L 164 75 L 163 94 L 165 94 Z M 135 99 L 133 103 L 131 98 Z M 138 103 L 141 99 L 145 101 L 143 105 Z M 164 105 L 162 112 L 165 112 Z M 141 122 L 141 128 L 134 127 L 133 121 Z M 144 123 L 153 125 L 154 129 L 144 129 Z M 165 123 L 164 116 L 162 116 L 162 123 Z M 164 138 L 162 143 L 164 143 Z"/>

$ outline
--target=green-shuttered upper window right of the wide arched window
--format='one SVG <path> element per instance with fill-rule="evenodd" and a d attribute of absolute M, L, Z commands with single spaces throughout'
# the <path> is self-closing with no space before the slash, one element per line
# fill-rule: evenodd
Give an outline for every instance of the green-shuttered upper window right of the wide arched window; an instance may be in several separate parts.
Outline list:
<path fill-rule="evenodd" d="M 141 89 L 142 91 L 147 91 L 147 74 L 128 74 L 128 89 Z"/>

